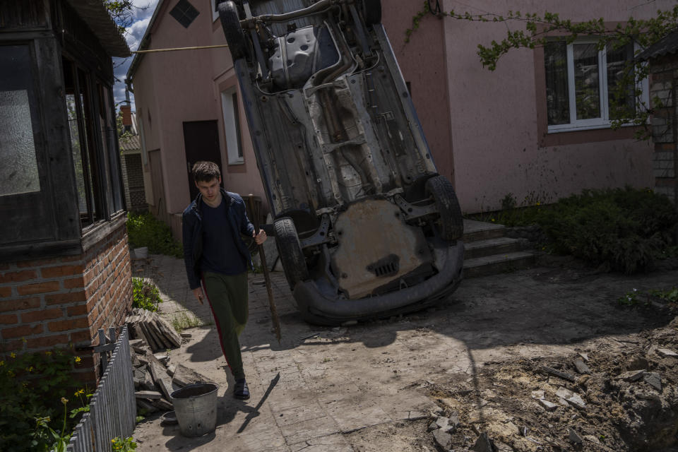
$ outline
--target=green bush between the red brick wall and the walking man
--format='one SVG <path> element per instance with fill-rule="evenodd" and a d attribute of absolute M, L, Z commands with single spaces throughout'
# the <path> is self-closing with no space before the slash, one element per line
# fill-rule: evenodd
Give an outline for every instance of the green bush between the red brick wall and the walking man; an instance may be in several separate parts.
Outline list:
<path fill-rule="evenodd" d="M 148 252 L 184 257 L 182 244 L 172 237 L 172 230 L 149 212 L 127 216 L 127 235 L 132 248 L 148 246 Z"/>

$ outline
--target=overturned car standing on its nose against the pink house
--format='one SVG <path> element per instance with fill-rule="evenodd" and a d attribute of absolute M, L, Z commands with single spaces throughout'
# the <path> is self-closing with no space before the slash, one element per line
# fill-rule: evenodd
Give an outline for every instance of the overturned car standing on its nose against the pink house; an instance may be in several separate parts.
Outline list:
<path fill-rule="evenodd" d="M 437 174 L 379 0 L 218 5 L 285 276 L 336 324 L 455 290 L 463 222 Z"/>

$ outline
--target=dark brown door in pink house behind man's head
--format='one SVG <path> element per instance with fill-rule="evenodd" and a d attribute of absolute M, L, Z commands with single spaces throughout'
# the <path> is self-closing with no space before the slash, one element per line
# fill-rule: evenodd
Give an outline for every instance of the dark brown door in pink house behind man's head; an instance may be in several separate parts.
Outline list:
<path fill-rule="evenodd" d="M 191 168 L 195 162 L 201 160 L 215 162 L 223 172 L 217 121 L 184 122 L 184 149 L 186 150 L 186 171 L 189 173 L 189 189 L 191 200 L 193 200 L 198 196 L 198 189 L 191 174 Z"/>

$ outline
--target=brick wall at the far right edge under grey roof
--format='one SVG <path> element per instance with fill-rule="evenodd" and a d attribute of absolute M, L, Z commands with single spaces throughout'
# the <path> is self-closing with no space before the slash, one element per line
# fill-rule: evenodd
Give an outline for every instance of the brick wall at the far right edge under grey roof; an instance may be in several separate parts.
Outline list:
<path fill-rule="evenodd" d="M 655 192 L 678 203 L 678 56 L 668 54 L 650 62 L 650 102 L 652 103 L 652 139 L 655 143 L 653 174 Z M 655 100 L 660 100 L 656 102 Z"/>

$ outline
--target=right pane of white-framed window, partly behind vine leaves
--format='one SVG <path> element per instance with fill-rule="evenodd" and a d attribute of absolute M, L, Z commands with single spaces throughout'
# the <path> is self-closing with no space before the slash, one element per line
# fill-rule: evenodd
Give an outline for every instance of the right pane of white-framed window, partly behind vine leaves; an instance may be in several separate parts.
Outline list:
<path fill-rule="evenodd" d="M 607 98 L 611 119 L 632 118 L 636 114 L 634 44 L 617 49 L 607 45 Z"/>

